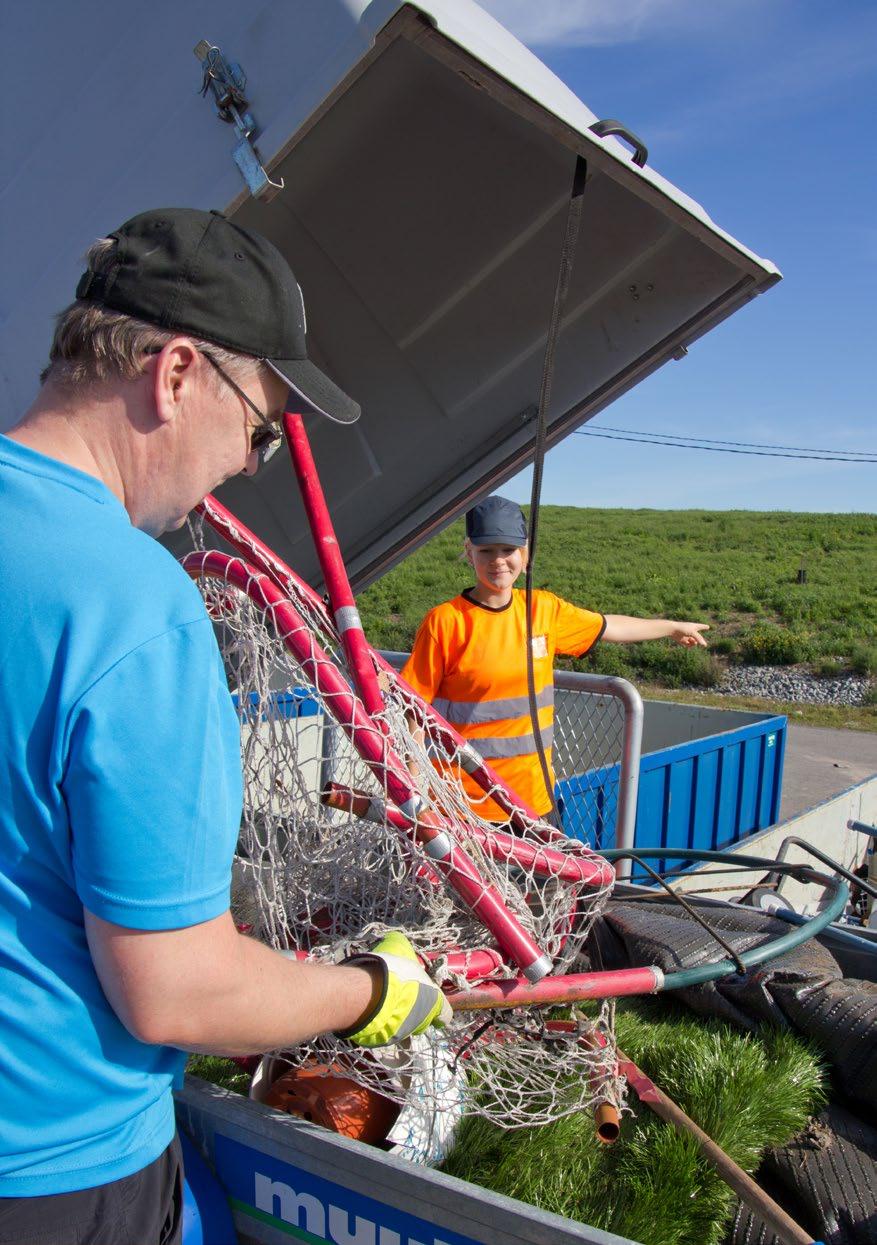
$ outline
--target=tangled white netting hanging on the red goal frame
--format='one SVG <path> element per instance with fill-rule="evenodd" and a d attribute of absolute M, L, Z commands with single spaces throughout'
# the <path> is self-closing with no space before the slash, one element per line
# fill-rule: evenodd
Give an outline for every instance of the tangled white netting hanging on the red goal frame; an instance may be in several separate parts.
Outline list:
<path fill-rule="evenodd" d="M 466 972 L 476 961 L 483 964 L 485 955 L 491 980 L 519 976 L 422 847 L 391 824 L 386 768 L 366 764 L 336 725 L 333 702 L 340 702 L 344 718 L 350 685 L 338 634 L 319 603 L 295 583 L 284 585 L 301 615 L 290 636 L 288 618 L 278 621 L 279 611 L 254 605 L 224 579 L 202 576 L 198 583 L 217 624 L 242 723 L 245 804 L 233 888 L 238 921 L 278 949 L 333 960 L 367 949 L 386 930 L 402 929 L 431 960 L 436 980 L 450 980 L 457 990 L 470 989 Z M 315 664 L 310 674 L 283 642 L 290 637 L 299 657 Z M 333 676 L 335 686 L 318 692 L 315 684 L 323 680 L 315 669 Z M 472 859 L 485 886 L 500 894 L 551 957 L 553 971 L 569 971 L 608 885 L 539 876 L 519 857 L 502 859 L 491 850 L 496 825 L 473 812 L 462 791 L 461 753 L 443 748 L 440 754 L 427 708 L 391 672 L 380 679 L 380 722 L 366 722 L 361 733 L 386 748 L 386 732 L 406 779 L 451 824 L 455 843 Z M 321 802 L 329 784 L 336 803 L 348 807 Z M 516 843 L 544 849 L 547 834 L 562 857 L 587 857 L 581 843 L 541 822 L 517 819 Z M 481 971 L 487 975 L 487 969 Z M 505 1127 L 543 1123 L 604 1101 L 620 1106 L 609 1010 L 604 1006 L 595 1021 L 576 1017 L 559 1032 L 547 1023 L 556 1015 L 563 1013 L 457 1012 L 442 1038 L 364 1056 L 325 1036 L 289 1057 L 340 1064 L 400 1103 L 412 1083 L 421 1096 L 424 1084 L 439 1084 L 441 1091 L 427 1104 L 434 1113 L 455 1109 L 462 1092 L 466 1109 Z"/>

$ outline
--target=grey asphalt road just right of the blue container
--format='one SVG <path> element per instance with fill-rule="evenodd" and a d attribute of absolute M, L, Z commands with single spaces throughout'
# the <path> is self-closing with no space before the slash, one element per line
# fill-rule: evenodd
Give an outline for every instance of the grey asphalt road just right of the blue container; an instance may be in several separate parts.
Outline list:
<path fill-rule="evenodd" d="M 877 735 L 790 723 L 780 817 L 802 813 L 876 773 Z"/>

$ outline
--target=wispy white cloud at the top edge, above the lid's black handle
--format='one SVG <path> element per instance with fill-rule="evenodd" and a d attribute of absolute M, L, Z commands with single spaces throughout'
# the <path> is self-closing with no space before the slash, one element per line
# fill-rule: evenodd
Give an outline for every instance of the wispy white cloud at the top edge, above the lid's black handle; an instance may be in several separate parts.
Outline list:
<path fill-rule="evenodd" d="M 629 44 L 645 34 L 701 25 L 703 0 L 478 0 L 531 47 Z M 709 6 L 706 6 L 709 7 Z"/>

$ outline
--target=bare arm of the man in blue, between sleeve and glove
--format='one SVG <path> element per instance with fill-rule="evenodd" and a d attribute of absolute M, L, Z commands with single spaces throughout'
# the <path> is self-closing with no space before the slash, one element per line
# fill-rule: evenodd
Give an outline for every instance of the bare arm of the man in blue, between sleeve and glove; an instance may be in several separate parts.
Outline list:
<path fill-rule="evenodd" d="M 113 1011 L 142 1042 L 208 1055 L 283 1050 L 350 1030 L 379 1003 L 370 965 L 288 960 L 238 934 L 230 914 L 178 930 L 133 930 L 85 911 Z"/>

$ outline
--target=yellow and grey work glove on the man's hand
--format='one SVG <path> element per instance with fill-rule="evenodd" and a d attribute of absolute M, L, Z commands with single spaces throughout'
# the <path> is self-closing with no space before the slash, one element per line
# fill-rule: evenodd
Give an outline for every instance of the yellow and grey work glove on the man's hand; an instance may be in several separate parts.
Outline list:
<path fill-rule="evenodd" d="M 356 1046 L 387 1046 L 412 1033 L 422 1033 L 430 1025 L 451 1023 L 451 1005 L 399 930 L 386 934 L 371 951 L 351 955 L 343 962 L 377 965 L 384 975 L 384 989 L 371 1013 L 356 1028 L 339 1031 L 339 1037 Z"/>

